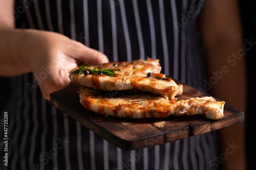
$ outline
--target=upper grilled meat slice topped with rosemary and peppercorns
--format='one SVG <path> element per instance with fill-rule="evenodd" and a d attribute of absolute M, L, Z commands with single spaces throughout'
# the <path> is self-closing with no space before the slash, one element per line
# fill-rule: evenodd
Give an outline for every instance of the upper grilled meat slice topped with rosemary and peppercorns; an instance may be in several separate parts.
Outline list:
<path fill-rule="evenodd" d="M 113 66 L 115 65 L 115 66 Z M 98 68 L 98 65 L 89 66 Z M 71 74 L 72 82 L 96 90 L 132 90 L 167 94 L 170 99 L 182 94 L 182 85 L 177 85 L 174 80 L 160 74 L 161 66 L 158 59 L 134 60 L 132 62 L 109 62 L 102 64 L 102 69 L 120 69 L 115 71 L 117 75 L 106 76 L 98 74 Z M 78 68 L 74 68 L 76 70 Z M 71 72 L 73 71 L 71 70 Z M 152 77 L 148 77 L 152 72 Z"/>

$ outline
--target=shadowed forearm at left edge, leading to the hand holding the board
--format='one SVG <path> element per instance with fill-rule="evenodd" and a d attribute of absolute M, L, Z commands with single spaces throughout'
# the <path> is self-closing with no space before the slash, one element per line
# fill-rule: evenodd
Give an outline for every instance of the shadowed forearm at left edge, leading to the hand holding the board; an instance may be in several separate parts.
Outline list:
<path fill-rule="evenodd" d="M 23 52 L 27 32 L 0 27 L 0 76 L 16 76 L 30 71 Z"/>

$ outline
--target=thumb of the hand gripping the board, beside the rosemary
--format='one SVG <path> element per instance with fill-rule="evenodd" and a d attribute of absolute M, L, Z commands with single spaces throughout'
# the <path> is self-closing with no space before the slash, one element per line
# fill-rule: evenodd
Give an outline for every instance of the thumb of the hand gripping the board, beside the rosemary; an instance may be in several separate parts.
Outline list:
<path fill-rule="evenodd" d="M 108 63 L 109 59 L 103 53 L 90 48 L 78 41 L 72 40 L 72 44 L 67 47 L 66 54 L 88 64 Z"/>

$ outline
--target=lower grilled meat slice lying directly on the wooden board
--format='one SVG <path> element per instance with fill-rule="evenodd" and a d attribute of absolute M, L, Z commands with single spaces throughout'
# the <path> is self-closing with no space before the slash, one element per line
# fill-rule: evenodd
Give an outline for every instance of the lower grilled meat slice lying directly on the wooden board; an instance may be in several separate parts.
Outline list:
<path fill-rule="evenodd" d="M 202 114 L 209 119 L 223 117 L 225 102 L 217 102 L 212 97 L 191 98 L 189 100 L 168 100 L 167 95 L 137 93 L 130 91 L 116 92 L 116 96 L 108 95 L 110 92 L 101 92 L 91 88 L 81 88 L 78 92 L 80 103 L 84 108 L 104 116 L 131 117 L 131 118 L 164 118 L 174 116 L 194 116 Z M 115 92 L 112 92 L 115 93 Z"/>

